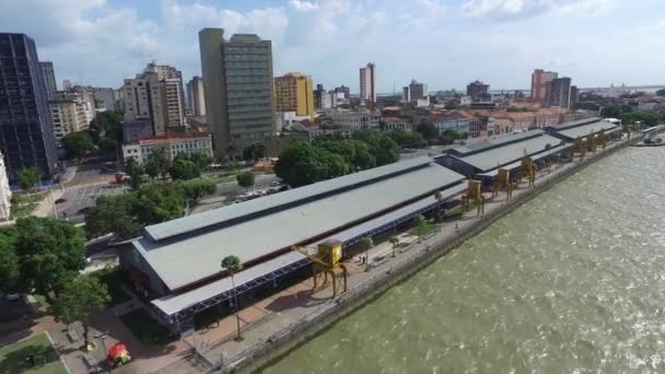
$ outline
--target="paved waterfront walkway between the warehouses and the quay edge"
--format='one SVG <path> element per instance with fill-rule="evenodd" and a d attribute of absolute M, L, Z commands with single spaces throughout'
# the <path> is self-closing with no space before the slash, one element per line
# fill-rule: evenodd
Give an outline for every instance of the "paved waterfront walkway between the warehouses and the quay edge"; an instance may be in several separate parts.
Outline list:
<path fill-rule="evenodd" d="M 610 149 L 620 143 L 608 144 L 605 152 L 588 154 L 584 160 L 602 156 Z M 552 165 L 549 168 L 539 171 L 536 184 L 545 183 L 580 163 L 575 160 L 570 163 Z M 513 199 L 530 191 L 527 183 L 523 183 L 513 192 Z M 489 199 L 490 194 L 485 194 L 488 198 L 485 212 L 486 215 L 499 212 L 505 207 L 508 200 L 505 192 L 500 192 L 495 199 Z M 365 265 L 359 258 L 353 258 L 347 266 L 349 267 L 349 293 L 359 292 L 362 289 L 372 287 L 375 282 L 385 277 L 390 277 L 400 269 L 406 269 L 415 259 L 421 257 L 423 253 L 434 247 L 446 245 L 454 241 L 460 232 L 471 229 L 478 222 L 476 209 L 464 214 L 456 221 L 447 221 L 439 225 L 439 231 L 430 237 L 423 238 L 418 243 L 418 238 L 402 233 L 400 235 L 401 245 L 396 250 L 396 257 L 392 257 L 392 245 L 387 242 L 377 244 L 370 250 L 370 264 L 372 268 L 365 271 Z M 317 293 L 312 293 L 312 280 L 307 279 L 298 283 L 276 295 L 262 300 L 240 312 L 243 340 L 235 341 L 235 316 L 223 318 L 217 324 L 212 324 L 208 329 L 197 331 L 186 340 L 197 348 L 201 359 L 211 365 L 219 365 L 222 369 L 236 366 L 242 363 L 244 358 L 252 355 L 266 342 L 272 342 L 282 337 L 287 331 L 293 329 L 299 324 L 306 324 L 317 315 L 329 312 L 337 303 L 331 296 L 331 288 L 327 288 Z M 265 346 L 264 346 L 265 347 Z M 184 365 L 184 366 L 183 366 Z M 177 373 L 185 371 L 187 362 L 165 367 L 161 372 Z"/>

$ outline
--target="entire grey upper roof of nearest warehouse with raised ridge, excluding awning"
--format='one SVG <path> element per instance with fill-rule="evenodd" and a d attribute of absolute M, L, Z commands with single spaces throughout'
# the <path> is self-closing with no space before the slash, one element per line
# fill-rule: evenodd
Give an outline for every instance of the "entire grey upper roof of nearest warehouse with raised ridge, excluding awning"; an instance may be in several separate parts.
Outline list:
<path fill-rule="evenodd" d="M 252 266 L 462 179 L 416 157 L 148 226 L 133 246 L 173 291 L 220 274 L 224 256 Z"/>

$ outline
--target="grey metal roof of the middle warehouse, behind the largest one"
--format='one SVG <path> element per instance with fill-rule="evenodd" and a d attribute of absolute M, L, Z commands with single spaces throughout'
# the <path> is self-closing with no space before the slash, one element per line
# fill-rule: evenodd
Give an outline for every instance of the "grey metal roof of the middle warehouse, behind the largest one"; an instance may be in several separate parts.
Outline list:
<path fill-rule="evenodd" d="M 538 130 L 539 131 L 539 130 Z M 537 137 L 528 138 L 520 142 L 511 142 L 503 147 L 492 148 L 485 152 L 474 153 L 468 156 L 457 156 L 456 159 L 482 171 L 488 172 L 498 166 L 510 164 L 527 155 L 545 152 L 547 144 L 552 148 L 561 143 L 560 139 L 548 136 L 540 131 Z"/>

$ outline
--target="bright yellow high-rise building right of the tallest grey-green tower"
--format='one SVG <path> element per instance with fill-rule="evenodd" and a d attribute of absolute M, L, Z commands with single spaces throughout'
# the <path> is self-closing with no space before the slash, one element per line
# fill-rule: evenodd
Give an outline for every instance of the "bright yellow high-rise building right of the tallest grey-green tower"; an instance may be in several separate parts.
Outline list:
<path fill-rule="evenodd" d="M 298 72 L 275 79 L 276 110 L 295 112 L 296 116 L 314 118 L 312 77 Z"/>

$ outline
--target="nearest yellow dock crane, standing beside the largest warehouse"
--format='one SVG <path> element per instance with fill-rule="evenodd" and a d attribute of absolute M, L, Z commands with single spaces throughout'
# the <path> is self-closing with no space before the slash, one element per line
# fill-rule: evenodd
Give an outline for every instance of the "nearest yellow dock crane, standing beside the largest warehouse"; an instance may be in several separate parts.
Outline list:
<path fill-rule="evenodd" d="M 349 271 L 339 260 L 342 257 L 342 243 L 337 239 L 328 239 L 319 243 L 316 247 L 292 246 L 293 250 L 301 253 L 312 260 L 312 279 L 314 281 L 314 292 L 318 292 L 328 285 L 328 274 L 332 280 L 332 297 L 337 295 L 337 269 L 341 269 L 343 279 L 343 291 L 347 291 L 347 279 Z M 307 248 L 316 249 L 316 254 L 310 254 Z M 323 274 L 320 285 L 318 279 Z"/>

